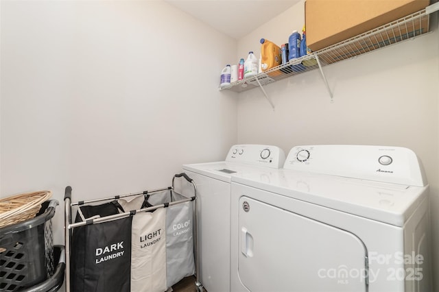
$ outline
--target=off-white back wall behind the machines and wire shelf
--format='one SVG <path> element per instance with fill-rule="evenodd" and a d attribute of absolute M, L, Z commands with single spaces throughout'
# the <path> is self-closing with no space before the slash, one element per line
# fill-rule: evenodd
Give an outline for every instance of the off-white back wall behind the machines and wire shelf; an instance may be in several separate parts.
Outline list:
<path fill-rule="evenodd" d="M 280 45 L 303 25 L 303 2 L 238 43 L 239 56 L 257 51 L 259 38 Z M 430 186 L 434 278 L 439 289 L 439 29 L 392 47 L 324 66 L 239 95 L 238 143 L 360 144 L 408 147 L 423 161 Z M 259 54 L 259 51 L 257 51 Z"/>

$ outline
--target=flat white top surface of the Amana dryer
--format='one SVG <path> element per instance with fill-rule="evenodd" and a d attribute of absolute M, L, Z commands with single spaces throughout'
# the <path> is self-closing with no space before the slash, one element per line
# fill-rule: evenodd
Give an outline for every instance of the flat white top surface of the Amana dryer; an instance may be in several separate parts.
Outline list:
<path fill-rule="evenodd" d="M 262 176 L 265 180 L 261 180 Z M 404 225 L 427 196 L 428 188 L 287 169 L 253 171 L 245 177 L 235 175 L 232 182 L 394 226 Z"/>

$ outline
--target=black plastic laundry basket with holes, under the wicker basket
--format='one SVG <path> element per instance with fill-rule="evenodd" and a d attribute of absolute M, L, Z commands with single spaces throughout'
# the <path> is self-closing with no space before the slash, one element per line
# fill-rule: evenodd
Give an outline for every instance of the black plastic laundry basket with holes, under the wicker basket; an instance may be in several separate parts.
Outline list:
<path fill-rule="evenodd" d="M 36 217 L 0 228 L 0 291 L 33 287 L 54 275 L 51 219 L 58 201 L 41 205 Z"/>

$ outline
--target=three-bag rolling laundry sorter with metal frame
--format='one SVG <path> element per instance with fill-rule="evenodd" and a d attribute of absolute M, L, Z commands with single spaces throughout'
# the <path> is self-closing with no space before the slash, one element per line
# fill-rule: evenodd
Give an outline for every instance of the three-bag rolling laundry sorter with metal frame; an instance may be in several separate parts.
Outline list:
<path fill-rule="evenodd" d="M 193 193 L 178 193 L 176 178 Z M 163 292 L 193 275 L 203 291 L 197 191 L 186 173 L 174 175 L 166 188 L 102 199 L 73 203 L 71 191 L 67 186 L 64 196 L 67 292 Z"/>

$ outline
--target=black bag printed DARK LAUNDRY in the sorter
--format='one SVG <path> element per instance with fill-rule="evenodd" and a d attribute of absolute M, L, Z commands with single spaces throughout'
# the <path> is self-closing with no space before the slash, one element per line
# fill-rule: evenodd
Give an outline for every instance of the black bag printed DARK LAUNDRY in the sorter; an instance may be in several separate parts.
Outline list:
<path fill-rule="evenodd" d="M 109 202 L 79 209 L 75 222 L 115 215 L 121 207 Z M 71 291 L 130 292 L 131 223 L 126 217 L 73 229 Z"/>

